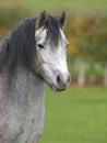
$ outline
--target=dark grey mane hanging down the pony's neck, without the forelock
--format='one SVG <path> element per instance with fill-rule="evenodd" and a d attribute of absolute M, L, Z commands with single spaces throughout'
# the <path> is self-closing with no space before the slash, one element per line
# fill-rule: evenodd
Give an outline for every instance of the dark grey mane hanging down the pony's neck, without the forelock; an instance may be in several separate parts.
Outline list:
<path fill-rule="evenodd" d="M 13 70 L 17 65 L 29 68 L 35 53 L 35 21 L 25 19 L 3 41 L 0 51 L 0 70 L 8 66 Z"/>

